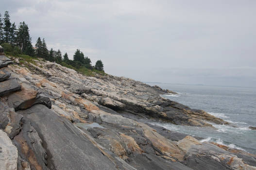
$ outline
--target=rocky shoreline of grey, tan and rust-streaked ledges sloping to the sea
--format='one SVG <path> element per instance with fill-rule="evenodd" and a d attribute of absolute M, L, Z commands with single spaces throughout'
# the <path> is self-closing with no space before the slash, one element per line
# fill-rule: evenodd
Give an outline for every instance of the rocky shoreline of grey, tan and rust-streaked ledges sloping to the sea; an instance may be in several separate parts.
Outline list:
<path fill-rule="evenodd" d="M 147 123 L 229 124 L 160 97 L 171 91 L 17 63 L 0 54 L 0 170 L 256 170 L 254 154 Z"/>

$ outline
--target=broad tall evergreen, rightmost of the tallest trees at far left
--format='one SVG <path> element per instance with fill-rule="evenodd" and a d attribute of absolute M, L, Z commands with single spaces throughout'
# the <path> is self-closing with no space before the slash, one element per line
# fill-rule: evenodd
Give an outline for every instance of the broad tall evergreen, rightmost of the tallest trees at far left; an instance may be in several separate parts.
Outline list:
<path fill-rule="evenodd" d="M 34 56 L 34 49 L 31 44 L 29 27 L 24 21 L 19 23 L 17 32 L 17 46 L 22 50 L 23 53 Z"/>

